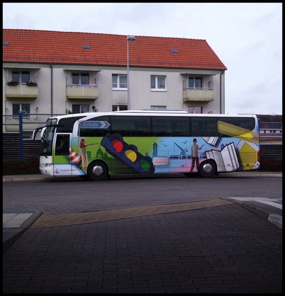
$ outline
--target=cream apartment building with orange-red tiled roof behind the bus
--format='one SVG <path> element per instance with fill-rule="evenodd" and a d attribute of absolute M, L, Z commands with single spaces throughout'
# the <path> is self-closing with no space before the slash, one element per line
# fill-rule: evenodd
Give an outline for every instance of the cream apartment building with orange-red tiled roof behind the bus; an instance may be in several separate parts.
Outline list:
<path fill-rule="evenodd" d="M 225 70 L 206 40 L 3 29 L 3 115 L 224 114 Z"/>

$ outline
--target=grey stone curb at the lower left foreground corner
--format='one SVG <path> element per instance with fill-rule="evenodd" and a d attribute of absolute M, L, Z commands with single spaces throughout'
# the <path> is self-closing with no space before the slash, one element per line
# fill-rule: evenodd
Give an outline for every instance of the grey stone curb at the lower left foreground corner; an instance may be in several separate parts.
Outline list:
<path fill-rule="evenodd" d="M 12 228 L 13 230 L 3 237 L 3 253 L 38 219 L 42 213 L 43 212 L 39 210 L 35 210 L 33 215 L 31 215 L 20 227 Z"/>

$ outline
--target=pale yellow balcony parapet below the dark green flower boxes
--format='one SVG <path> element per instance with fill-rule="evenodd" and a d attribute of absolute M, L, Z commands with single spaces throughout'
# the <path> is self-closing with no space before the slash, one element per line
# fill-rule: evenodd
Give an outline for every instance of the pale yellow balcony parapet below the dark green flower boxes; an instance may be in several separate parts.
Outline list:
<path fill-rule="evenodd" d="M 6 99 L 11 98 L 29 98 L 36 99 L 38 97 L 38 86 L 28 86 L 26 83 L 19 83 L 17 85 L 5 85 Z"/>

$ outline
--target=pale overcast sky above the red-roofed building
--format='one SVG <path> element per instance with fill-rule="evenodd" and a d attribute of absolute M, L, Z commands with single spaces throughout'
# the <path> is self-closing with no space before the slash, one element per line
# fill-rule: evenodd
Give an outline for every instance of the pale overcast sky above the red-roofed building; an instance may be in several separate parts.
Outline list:
<path fill-rule="evenodd" d="M 282 3 L 3 3 L 4 29 L 205 39 L 226 114 L 282 114 Z"/>

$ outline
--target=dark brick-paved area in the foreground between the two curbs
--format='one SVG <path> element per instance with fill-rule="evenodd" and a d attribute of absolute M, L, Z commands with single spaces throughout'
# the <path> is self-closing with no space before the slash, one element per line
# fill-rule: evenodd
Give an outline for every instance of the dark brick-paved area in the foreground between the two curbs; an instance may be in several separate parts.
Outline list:
<path fill-rule="evenodd" d="M 282 229 L 236 204 L 29 228 L 3 293 L 282 293 Z"/>

